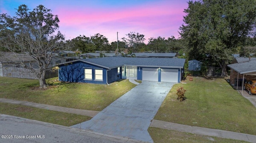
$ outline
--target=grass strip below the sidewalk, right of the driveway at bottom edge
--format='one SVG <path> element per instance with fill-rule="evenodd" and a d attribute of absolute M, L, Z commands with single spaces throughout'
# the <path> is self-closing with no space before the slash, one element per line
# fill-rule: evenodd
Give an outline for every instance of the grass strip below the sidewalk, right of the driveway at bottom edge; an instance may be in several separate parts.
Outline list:
<path fill-rule="evenodd" d="M 149 127 L 148 132 L 154 143 L 248 143 L 246 141 L 196 135 L 156 127 Z"/>

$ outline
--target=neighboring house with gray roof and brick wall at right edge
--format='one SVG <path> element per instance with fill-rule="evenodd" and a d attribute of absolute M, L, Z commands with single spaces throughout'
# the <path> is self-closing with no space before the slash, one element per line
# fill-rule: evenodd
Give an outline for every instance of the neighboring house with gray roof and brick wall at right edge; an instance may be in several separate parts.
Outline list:
<path fill-rule="evenodd" d="M 237 57 L 230 67 L 230 84 L 242 86 L 242 80 L 256 79 L 256 58 Z"/>

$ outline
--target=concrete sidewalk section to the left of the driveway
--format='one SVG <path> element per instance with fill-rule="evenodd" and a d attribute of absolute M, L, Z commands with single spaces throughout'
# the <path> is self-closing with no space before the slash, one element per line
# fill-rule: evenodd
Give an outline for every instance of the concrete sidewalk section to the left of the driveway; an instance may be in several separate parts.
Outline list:
<path fill-rule="evenodd" d="M 71 114 L 78 114 L 78 115 L 90 116 L 90 117 L 94 117 L 96 114 L 99 113 L 99 111 L 66 108 L 66 107 L 52 106 L 52 105 L 39 104 L 39 103 L 20 101 L 20 100 L 13 100 L 13 99 L 6 99 L 6 98 L 0 98 L 0 102 L 11 103 L 11 104 L 20 104 L 20 105 L 30 106 L 30 107 L 34 107 L 34 108 L 53 110 L 53 111 L 58 111 L 58 112 L 71 113 Z"/>

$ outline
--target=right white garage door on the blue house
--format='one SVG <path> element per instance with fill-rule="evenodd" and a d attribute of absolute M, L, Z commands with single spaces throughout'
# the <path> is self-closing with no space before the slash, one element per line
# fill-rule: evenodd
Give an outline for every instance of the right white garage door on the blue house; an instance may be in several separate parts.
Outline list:
<path fill-rule="evenodd" d="M 161 81 L 178 82 L 178 69 L 161 69 Z"/>

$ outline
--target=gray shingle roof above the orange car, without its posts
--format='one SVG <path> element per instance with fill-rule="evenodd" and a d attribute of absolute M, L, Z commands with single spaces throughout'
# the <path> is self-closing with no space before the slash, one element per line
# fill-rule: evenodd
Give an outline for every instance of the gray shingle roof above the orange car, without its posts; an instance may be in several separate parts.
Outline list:
<path fill-rule="evenodd" d="M 228 65 L 231 69 L 234 69 L 240 74 L 246 74 L 250 72 L 256 72 L 256 60 L 251 60 L 244 63 L 235 63 Z"/>

